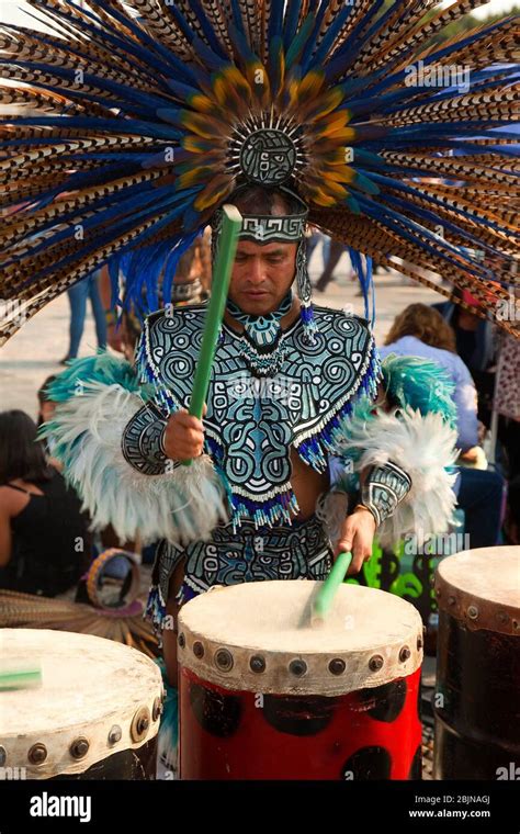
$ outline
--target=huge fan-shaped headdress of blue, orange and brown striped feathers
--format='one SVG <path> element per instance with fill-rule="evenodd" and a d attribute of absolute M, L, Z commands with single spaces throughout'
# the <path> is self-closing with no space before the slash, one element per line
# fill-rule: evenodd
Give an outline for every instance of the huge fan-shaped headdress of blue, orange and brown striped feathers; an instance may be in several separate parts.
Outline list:
<path fill-rule="evenodd" d="M 486 0 L 29 2 L 47 32 L 0 29 L 1 103 L 30 109 L 0 124 L 3 339 L 105 262 L 167 297 L 247 181 L 297 192 L 354 260 L 509 297 L 518 18 L 434 45 Z"/>

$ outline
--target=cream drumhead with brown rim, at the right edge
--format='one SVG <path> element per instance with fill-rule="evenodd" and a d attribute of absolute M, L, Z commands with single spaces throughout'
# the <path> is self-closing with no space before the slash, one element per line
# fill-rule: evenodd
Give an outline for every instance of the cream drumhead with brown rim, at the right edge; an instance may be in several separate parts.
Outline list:
<path fill-rule="evenodd" d="M 436 572 L 439 608 L 471 629 L 520 635 L 520 546 L 465 550 Z"/>

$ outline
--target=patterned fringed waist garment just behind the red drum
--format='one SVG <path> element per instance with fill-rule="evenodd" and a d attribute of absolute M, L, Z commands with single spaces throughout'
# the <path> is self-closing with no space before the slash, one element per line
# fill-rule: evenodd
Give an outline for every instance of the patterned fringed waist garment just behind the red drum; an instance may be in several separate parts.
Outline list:
<path fill-rule="evenodd" d="M 257 529 L 244 521 L 238 532 L 233 523 L 218 525 L 211 541 L 197 541 L 181 549 L 161 541 L 157 548 L 147 613 L 160 630 L 169 594 L 170 577 L 185 557 L 184 590 L 202 594 L 214 585 L 271 579 L 317 579 L 327 577 L 332 551 L 321 522 L 312 516 L 305 521 Z"/>

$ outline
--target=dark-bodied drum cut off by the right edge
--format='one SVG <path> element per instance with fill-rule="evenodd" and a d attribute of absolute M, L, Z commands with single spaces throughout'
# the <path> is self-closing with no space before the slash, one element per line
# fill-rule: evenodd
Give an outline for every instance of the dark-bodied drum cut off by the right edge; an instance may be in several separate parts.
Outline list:
<path fill-rule="evenodd" d="M 483 548 L 445 559 L 436 590 L 434 776 L 518 779 L 520 548 Z"/>

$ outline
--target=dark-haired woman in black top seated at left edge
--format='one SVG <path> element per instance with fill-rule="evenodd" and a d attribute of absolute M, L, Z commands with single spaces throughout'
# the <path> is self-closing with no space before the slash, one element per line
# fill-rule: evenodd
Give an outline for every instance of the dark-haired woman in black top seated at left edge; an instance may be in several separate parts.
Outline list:
<path fill-rule="evenodd" d="M 24 412 L 0 413 L 0 587 L 54 597 L 90 563 L 80 500 L 49 464 Z"/>

